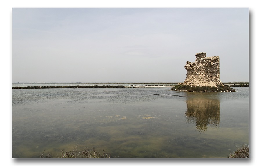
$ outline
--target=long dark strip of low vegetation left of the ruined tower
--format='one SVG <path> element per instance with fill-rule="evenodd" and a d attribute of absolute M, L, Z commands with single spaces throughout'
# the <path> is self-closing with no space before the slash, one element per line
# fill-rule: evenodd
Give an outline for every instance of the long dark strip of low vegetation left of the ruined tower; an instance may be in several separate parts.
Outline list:
<path fill-rule="evenodd" d="M 92 86 L 15 86 L 12 89 L 52 89 L 52 88 L 124 88 L 122 85 L 92 85 Z"/>

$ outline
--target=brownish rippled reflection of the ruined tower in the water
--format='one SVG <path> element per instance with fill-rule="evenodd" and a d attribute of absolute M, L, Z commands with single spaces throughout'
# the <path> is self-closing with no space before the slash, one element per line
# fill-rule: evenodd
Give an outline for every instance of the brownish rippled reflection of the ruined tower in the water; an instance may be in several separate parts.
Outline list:
<path fill-rule="evenodd" d="M 195 95 L 187 98 L 186 122 L 196 123 L 196 129 L 206 131 L 208 126 L 220 124 L 220 100 L 209 95 Z"/>

